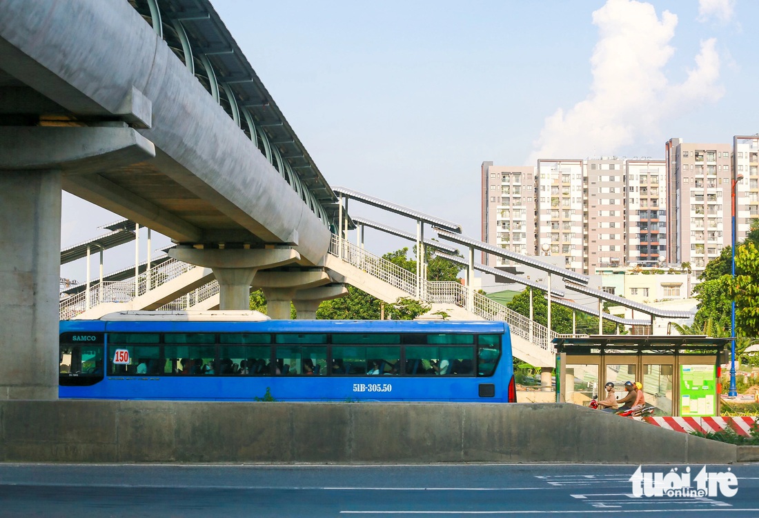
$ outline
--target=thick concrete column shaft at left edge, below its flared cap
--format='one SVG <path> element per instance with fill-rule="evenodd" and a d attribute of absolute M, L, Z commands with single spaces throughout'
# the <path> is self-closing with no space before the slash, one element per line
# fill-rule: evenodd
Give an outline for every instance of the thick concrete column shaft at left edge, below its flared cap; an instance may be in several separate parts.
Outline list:
<path fill-rule="evenodd" d="M 60 171 L 0 171 L 0 400 L 58 399 Z"/>

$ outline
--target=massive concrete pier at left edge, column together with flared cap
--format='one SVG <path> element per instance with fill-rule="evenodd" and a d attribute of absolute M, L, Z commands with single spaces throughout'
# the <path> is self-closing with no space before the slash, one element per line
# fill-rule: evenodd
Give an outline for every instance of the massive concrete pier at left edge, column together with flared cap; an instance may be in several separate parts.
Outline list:
<path fill-rule="evenodd" d="M 0 127 L 0 399 L 58 399 L 62 174 L 156 156 L 136 130 L 107 125 Z"/>

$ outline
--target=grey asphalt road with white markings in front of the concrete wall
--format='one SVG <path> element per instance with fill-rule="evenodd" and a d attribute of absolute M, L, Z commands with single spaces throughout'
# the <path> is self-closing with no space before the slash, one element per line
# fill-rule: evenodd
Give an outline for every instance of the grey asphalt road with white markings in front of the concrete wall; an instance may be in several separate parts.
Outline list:
<path fill-rule="evenodd" d="M 673 467 L 686 468 L 642 471 Z M 703 466 L 689 467 L 695 479 Z M 707 473 L 729 469 L 737 476 L 738 491 L 729 498 L 635 498 L 636 469 L 4 463 L 0 516 L 759 516 L 759 464 L 707 466 Z"/>

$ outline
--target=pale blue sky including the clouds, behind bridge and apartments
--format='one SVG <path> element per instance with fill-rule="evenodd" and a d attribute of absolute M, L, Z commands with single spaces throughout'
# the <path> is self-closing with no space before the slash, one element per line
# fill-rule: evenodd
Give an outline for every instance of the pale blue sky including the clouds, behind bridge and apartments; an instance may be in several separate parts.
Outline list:
<path fill-rule="evenodd" d="M 754 0 L 211 2 L 329 184 L 477 239 L 482 162 L 661 159 L 672 137 L 759 132 Z M 119 218 L 64 193 L 61 244 Z M 402 246 L 367 229 L 374 253 Z M 106 253 L 106 272 L 132 264 L 133 245 Z"/>

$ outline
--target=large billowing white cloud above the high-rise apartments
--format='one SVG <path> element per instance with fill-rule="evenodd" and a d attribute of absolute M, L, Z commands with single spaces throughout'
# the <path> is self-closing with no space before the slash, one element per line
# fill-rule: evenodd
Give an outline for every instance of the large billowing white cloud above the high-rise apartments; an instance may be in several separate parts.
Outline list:
<path fill-rule="evenodd" d="M 669 83 L 664 67 L 675 49 L 677 16 L 635 0 L 607 0 L 593 13 L 599 41 L 591 57 L 587 98 L 546 118 L 528 164 L 538 158 L 613 155 L 623 145 L 648 140 L 661 121 L 723 96 L 715 39 L 701 42 L 683 83 Z"/>

